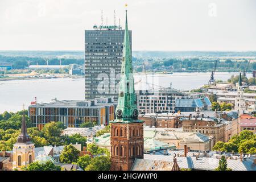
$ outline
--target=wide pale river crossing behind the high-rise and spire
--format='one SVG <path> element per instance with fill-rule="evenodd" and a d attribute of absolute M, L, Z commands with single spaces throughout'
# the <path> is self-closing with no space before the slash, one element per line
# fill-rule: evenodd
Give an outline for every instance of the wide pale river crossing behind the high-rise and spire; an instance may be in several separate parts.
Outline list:
<path fill-rule="evenodd" d="M 231 75 L 239 73 L 215 73 L 216 80 L 226 81 Z M 170 74 L 142 74 L 134 75 L 135 90 L 145 88 L 145 80 L 148 88 L 158 86 L 168 87 L 172 82 L 172 88 L 191 90 L 207 84 L 210 73 L 173 73 Z M 252 74 L 247 74 L 252 77 Z M 84 78 L 51 78 L 37 80 L 10 80 L 0 81 L 0 113 L 3 111 L 22 110 L 23 104 L 27 108 L 30 102 L 37 97 L 38 102 L 50 102 L 55 97 L 57 100 L 83 100 Z"/>

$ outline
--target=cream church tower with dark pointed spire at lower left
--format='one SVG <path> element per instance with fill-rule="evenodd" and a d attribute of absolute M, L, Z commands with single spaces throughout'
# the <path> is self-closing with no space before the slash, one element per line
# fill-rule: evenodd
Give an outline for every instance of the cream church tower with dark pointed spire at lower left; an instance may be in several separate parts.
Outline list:
<path fill-rule="evenodd" d="M 21 169 L 35 160 L 35 146 L 27 134 L 25 114 L 23 111 L 22 126 L 17 142 L 13 146 L 13 169 Z"/>

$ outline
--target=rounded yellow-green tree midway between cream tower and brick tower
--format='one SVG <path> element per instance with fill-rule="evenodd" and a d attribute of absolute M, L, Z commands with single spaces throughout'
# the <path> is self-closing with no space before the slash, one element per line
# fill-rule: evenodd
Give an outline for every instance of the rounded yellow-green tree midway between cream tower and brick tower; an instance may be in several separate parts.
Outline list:
<path fill-rule="evenodd" d="M 72 144 L 64 147 L 63 152 L 60 155 L 61 163 L 76 163 L 79 158 L 80 151 L 77 150 Z"/>

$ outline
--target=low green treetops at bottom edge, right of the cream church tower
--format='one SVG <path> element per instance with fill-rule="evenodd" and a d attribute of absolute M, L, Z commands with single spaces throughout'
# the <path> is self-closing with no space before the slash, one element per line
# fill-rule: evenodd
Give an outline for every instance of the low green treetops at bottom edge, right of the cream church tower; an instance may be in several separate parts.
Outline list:
<path fill-rule="evenodd" d="M 33 162 L 27 167 L 23 168 L 24 171 L 61 171 L 60 166 L 56 166 L 53 162 L 48 160 L 45 163 Z"/>

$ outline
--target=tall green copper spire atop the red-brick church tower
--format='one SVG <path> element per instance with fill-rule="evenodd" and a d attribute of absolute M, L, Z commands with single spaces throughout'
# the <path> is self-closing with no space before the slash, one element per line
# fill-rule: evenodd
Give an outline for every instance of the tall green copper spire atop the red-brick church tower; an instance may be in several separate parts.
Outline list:
<path fill-rule="evenodd" d="M 119 81 L 118 105 L 113 122 L 142 122 L 138 121 L 137 97 L 134 91 L 133 67 L 131 63 L 131 48 L 127 23 L 125 20 L 125 36 L 123 39 L 123 57 L 121 78 Z"/>

